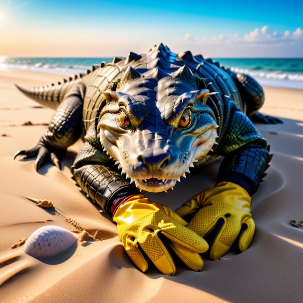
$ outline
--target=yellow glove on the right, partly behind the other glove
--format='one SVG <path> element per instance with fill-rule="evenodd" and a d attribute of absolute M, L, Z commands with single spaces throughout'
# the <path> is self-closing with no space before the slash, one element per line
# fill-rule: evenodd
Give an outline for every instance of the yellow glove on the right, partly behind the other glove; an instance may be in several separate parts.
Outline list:
<path fill-rule="evenodd" d="M 237 238 L 241 252 L 249 247 L 255 230 L 250 201 L 242 187 L 221 182 L 193 196 L 176 213 L 184 217 L 198 210 L 187 227 L 205 237 L 210 258 L 215 260 L 225 255 Z"/>

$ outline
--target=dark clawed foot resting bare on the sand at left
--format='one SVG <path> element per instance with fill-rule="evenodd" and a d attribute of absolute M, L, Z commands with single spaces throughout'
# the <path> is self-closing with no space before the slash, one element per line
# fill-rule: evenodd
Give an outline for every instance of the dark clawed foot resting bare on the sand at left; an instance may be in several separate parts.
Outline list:
<path fill-rule="evenodd" d="M 40 166 L 44 163 L 51 162 L 61 170 L 61 163 L 59 158 L 66 152 L 66 149 L 56 149 L 49 146 L 43 138 L 40 139 L 37 146 L 31 150 L 17 151 L 14 159 L 18 155 L 25 155 L 25 159 L 37 157 L 35 161 L 35 169 L 38 171 Z"/>

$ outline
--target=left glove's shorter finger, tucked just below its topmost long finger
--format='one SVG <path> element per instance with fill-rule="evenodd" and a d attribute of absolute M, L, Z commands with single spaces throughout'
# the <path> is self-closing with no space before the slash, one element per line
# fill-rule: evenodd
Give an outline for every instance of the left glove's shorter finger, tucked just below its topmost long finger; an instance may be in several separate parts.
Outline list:
<path fill-rule="evenodd" d="M 174 253 L 179 257 L 179 259 L 191 270 L 201 271 L 203 268 L 203 260 L 201 256 L 197 253 L 188 249 L 178 243 L 170 242 L 168 243 Z"/>

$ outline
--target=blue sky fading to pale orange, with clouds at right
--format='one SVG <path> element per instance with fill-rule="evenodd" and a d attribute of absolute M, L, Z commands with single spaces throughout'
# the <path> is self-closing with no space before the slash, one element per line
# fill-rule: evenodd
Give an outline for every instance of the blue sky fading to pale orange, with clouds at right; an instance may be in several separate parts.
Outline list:
<path fill-rule="evenodd" d="M 214 58 L 303 57 L 302 0 L 0 0 L 0 56 L 114 57 L 163 43 Z"/>

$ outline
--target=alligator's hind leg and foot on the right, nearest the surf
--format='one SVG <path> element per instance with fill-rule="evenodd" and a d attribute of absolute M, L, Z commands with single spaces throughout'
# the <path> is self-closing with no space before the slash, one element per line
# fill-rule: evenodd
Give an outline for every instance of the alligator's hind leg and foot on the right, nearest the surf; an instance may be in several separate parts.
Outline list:
<path fill-rule="evenodd" d="M 251 76 L 227 71 L 235 82 L 241 98 L 246 103 L 246 115 L 252 122 L 264 124 L 283 123 L 282 120 L 272 116 L 266 116 L 258 112 L 264 103 L 264 90 L 262 86 Z"/>

